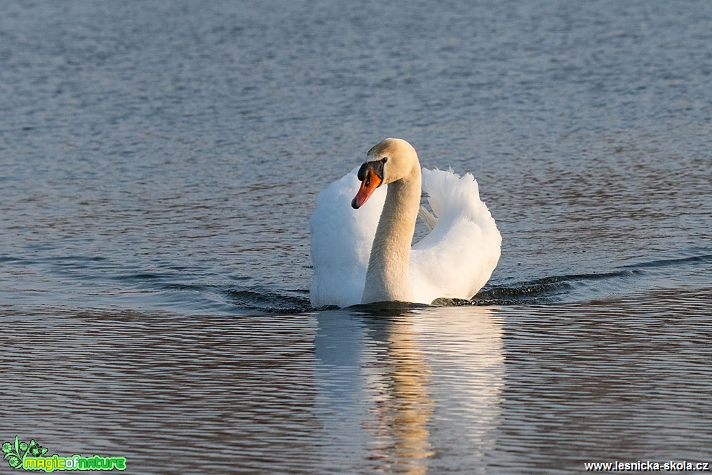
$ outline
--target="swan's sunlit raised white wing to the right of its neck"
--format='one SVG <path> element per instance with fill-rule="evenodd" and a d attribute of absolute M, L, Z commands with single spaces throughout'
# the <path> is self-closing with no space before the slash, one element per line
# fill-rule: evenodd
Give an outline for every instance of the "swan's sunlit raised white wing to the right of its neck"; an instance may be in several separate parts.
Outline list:
<path fill-rule="evenodd" d="M 423 192 L 438 217 L 432 231 L 410 255 L 414 300 L 472 298 L 497 266 L 502 236 L 480 200 L 471 174 L 459 177 L 442 170 L 422 170 Z"/>

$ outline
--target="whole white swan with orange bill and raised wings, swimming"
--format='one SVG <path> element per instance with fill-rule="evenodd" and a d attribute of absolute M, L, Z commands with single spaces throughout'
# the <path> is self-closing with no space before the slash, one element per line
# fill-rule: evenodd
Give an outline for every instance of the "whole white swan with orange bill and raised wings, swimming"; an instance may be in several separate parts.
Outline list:
<path fill-rule="evenodd" d="M 420 206 L 422 193 L 434 214 Z M 411 245 L 418 216 L 430 232 Z M 314 308 L 470 299 L 501 253 L 474 177 L 421 169 L 412 145 L 395 138 L 319 193 L 309 227 Z"/>

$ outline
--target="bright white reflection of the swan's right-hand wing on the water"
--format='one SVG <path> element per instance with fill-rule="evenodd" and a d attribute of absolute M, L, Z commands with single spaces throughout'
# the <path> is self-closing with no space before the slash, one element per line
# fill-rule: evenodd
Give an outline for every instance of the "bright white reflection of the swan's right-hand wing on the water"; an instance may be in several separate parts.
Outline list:
<path fill-rule="evenodd" d="M 486 473 L 501 424 L 503 330 L 484 307 L 415 310 L 412 331 L 431 375 L 433 473 Z"/>

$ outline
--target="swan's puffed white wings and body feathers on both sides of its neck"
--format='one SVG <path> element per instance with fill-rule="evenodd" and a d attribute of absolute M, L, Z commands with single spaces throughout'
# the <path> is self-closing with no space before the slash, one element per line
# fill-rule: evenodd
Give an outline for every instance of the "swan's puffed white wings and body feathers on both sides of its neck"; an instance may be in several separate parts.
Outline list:
<path fill-rule="evenodd" d="M 320 192 L 309 221 L 314 278 L 312 306 L 346 307 L 360 303 L 368 258 L 383 209 L 387 185 L 367 204 L 352 209 L 360 182 L 358 167 Z M 422 169 L 422 189 L 437 220 L 412 247 L 410 286 L 413 301 L 471 298 L 488 281 L 500 256 L 501 235 L 481 202 L 471 174 Z"/>

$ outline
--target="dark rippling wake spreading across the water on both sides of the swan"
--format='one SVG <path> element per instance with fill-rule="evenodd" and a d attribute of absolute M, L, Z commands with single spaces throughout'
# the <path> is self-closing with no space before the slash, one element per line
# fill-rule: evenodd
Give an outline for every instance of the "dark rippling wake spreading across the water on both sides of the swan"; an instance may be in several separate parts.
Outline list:
<path fill-rule="evenodd" d="M 248 277 L 230 276 L 200 268 L 179 268 L 166 262 L 152 268 L 125 268 L 102 257 L 53 256 L 26 259 L 0 255 L 0 265 L 9 268 L 36 267 L 37 275 L 52 276 L 33 288 L 34 297 L 43 291 L 44 301 L 52 292 L 57 301 L 77 296 L 94 306 L 116 306 L 116 298 L 130 306 L 200 314 L 297 314 L 315 310 L 305 289 L 244 286 Z M 637 293 L 676 286 L 708 286 L 712 275 L 712 249 L 690 248 L 669 251 L 655 258 L 629 259 L 609 271 L 546 276 L 526 281 L 491 281 L 471 300 L 439 299 L 435 306 L 548 305 L 584 301 L 606 301 Z M 64 300 L 63 300 L 64 299 Z M 119 305 L 124 304 L 124 302 Z"/>

